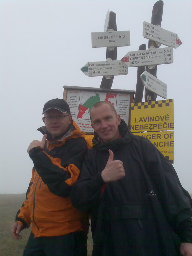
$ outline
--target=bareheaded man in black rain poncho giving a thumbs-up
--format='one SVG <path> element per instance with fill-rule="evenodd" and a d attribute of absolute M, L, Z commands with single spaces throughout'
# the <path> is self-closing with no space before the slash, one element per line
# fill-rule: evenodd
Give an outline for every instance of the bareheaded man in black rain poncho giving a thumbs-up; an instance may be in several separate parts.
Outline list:
<path fill-rule="evenodd" d="M 192 256 L 191 198 L 171 163 L 110 103 L 96 103 L 90 118 L 95 145 L 71 199 L 91 211 L 92 255 Z"/>

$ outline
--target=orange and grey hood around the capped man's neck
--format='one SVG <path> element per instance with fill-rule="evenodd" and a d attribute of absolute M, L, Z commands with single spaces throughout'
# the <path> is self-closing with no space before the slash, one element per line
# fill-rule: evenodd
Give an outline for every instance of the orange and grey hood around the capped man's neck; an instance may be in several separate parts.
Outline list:
<path fill-rule="evenodd" d="M 80 130 L 79 126 L 73 120 L 69 126 L 68 131 L 62 137 L 59 137 L 54 141 L 52 141 L 51 134 L 47 131 L 46 126 L 42 126 L 37 130 L 41 132 L 43 135 L 47 134 L 47 140 L 49 141 L 50 144 L 59 143 L 59 146 L 61 146 L 62 141 L 66 141 L 68 139 L 74 139 L 78 137 L 85 138 L 85 133 Z"/>

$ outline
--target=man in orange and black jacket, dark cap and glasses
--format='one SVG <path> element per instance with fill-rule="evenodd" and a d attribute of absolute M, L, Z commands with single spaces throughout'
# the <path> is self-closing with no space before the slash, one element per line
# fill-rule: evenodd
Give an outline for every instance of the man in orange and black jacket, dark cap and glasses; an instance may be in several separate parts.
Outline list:
<path fill-rule="evenodd" d="M 43 108 L 42 141 L 34 140 L 27 152 L 33 160 L 26 200 L 16 215 L 11 233 L 15 239 L 32 223 L 24 256 L 85 256 L 89 222 L 72 206 L 71 186 L 87 152 L 85 134 L 72 120 L 63 99 L 52 99 Z"/>

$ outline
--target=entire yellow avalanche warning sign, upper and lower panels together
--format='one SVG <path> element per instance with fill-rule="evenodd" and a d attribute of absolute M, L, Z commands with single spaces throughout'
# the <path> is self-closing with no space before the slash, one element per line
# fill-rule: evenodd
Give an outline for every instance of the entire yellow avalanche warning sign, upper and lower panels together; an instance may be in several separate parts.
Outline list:
<path fill-rule="evenodd" d="M 173 99 L 131 104 L 131 131 L 149 139 L 174 163 Z"/>

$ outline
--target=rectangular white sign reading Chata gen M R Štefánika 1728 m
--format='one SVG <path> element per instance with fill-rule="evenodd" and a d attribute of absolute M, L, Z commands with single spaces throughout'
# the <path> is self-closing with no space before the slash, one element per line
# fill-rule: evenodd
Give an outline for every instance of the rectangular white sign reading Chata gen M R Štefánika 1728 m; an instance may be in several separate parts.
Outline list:
<path fill-rule="evenodd" d="M 130 31 L 91 33 L 92 47 L 130 46 Z"/>

